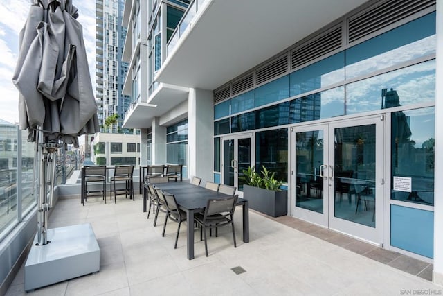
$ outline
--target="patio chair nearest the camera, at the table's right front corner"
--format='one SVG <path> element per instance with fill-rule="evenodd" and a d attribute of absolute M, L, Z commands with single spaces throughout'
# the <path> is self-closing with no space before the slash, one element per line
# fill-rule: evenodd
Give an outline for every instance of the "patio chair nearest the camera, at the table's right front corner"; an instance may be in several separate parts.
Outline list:
<path fill-rule="evenodd" d="M 234 211 L 236 202 L 237 196 L 233 196 L 232 198 L 208 200 L 204 214 L 195 214 L 195 221 L 201 227 L 200 241 L 202 233 L 204 234 L 206 256 L 208 256 L 208 243 L 206 237 L 207 228 L 217 229 L 218 227 L 232 225 L 234 247 L 237 247 L 234 228 Z"/>

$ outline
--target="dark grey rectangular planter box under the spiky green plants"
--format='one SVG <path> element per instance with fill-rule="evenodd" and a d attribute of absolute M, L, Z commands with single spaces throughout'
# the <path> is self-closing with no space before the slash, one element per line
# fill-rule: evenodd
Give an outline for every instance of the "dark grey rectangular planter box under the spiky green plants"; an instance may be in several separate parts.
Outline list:
<path fill-rule="evenodd" d="M 243 197 L 249 200 L 249 207 L 263 214 L 278 217 L 287 214 L 288 191 L 271 191 L 249 185 L 243 186 Z"/>

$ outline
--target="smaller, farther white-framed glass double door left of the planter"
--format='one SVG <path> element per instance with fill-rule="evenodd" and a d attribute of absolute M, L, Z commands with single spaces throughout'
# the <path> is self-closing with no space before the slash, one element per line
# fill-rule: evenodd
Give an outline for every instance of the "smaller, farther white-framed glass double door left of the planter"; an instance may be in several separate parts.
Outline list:
<path fill-rule="evenodd" d="M 237 187 L 242 197 L 243 170 L 255 164 L 253 134 L 221 137 L 221 183 Z"/>

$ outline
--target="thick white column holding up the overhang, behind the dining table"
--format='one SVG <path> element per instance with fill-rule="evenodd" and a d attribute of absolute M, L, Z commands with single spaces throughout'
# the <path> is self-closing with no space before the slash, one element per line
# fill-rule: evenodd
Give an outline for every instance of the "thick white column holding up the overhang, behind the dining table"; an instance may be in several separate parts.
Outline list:
<path fill-rule="evenodd" d="M 201 177 L 201 184 L 214 180 L 213 92 L 190 89 L 188 99 L 188 177 Z"/>

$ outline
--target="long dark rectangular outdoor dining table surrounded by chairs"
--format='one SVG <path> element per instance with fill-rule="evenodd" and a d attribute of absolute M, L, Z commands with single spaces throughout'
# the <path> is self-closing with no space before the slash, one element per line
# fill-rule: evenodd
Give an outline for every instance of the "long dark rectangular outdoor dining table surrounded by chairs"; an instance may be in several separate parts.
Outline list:
<path fill-rule="evenodd" d="M 188 259 L 194 259 L 194 214 L 203 212 L 208 200 L 228 198 L 230 195 L 212 191 L 188 182 L 169 182 L 155 184 L 166 193 L 173 194 L 179 208 L 186 212 L 186 236 Z M 237 198 L 237 205 L 243 208 L 243 241 L 249 242 L 249 202 L 244 198 Z"/>

